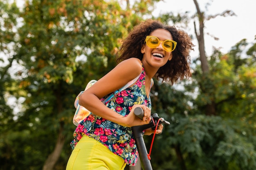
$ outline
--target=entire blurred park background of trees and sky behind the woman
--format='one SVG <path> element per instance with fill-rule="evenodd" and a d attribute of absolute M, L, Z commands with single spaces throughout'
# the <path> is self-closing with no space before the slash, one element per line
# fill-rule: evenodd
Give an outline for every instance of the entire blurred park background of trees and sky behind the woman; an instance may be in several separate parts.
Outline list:
<path fill-rule="evenodd" d="M 250 0 L 1 0 L 0 170 L 65 169 L 76 95 L 116 65 L 121 40 L 148 18 L 179 26 L 196 45 L 191 79 L 174 86 L 155 79 L 152 112 L 171 125 L 154 141 L 153 169 L 255 170 L 254 7 Z"/>

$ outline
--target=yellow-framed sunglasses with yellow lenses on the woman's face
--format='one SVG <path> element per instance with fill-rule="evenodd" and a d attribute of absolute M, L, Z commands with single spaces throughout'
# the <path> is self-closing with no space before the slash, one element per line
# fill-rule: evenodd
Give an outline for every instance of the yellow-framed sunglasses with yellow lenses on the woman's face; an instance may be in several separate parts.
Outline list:
<path fill-rule="evenodd" d="M 157 37 L 150 35 L 146 36 L 145 42 L 151 49 L 156 48 L 157 46 L 159 46 L 160 42 L 162 42 L 162 47 L 164 51 L 167 52 L 173 51 L 177 45 L 177 42 L 173 40 L 160 41 Z"/>

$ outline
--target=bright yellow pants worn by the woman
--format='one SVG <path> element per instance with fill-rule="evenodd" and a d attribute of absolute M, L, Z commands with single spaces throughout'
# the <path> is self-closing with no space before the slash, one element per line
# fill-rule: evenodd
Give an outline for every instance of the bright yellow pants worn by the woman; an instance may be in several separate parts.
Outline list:
<path fill-rule="evenodd" d="M 80 139 L 67 162 L 66 170 L 124 170 L 124 159 L 86 135 Z"/>

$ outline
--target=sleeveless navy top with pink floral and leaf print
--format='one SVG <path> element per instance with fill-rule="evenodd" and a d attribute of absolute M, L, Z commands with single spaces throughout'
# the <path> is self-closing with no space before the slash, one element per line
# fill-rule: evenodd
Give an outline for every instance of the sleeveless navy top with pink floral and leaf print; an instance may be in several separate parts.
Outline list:
<path fill-rule="evenodd" d="M 137 82 L 112 97 L 106 103 L 106 106 L 123 116 L 128 115 L 135 104 L 144 104 L 151 109 L 150 97 L 146 96 L 145 75 L 146 73 L 142 67 Z M 131 128 L 121 126 L 91 113 L 80 122 L 74 131 L 74 140 L 70 143 L 72 149 L 83 135 L 101 142 L 110 151 L 122 157 L 128 165 L 136 165 L 139 154 Z"/>

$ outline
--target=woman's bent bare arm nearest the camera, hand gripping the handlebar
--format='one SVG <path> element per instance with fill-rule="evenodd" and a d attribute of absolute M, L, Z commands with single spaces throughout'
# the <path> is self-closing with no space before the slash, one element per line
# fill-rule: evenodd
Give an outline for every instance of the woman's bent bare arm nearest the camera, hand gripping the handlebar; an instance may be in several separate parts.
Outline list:
<path fill-rule="evenodd" d="M 148 124 L 150 121 L 150 109 L 144 105 L 137 105 L 144 110 L 144 119 L 141 120 L 133 114 L 134 106 L 128 116 L 124 117 L 106 107 L 100 99 L 113 91 L 126 85 L 135 79 L 142 71 L 141 61 L 137 58 L 130 58 L 119 63 L 112 71 L 99 79 L 93 86 L 88 88 L 79 99 L 79 104 L 90 112 L 108 119 L 122 126 L 137 126 Z"/>

